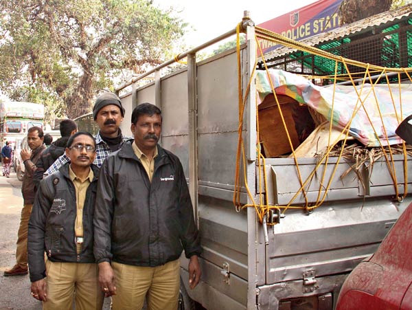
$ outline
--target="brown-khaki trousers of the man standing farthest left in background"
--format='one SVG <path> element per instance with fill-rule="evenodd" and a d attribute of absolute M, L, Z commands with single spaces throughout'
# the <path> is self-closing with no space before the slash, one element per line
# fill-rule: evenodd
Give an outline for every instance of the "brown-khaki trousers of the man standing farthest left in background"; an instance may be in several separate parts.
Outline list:
<path fill-rule="evenodd" d="M 25 204 L 21 209 L 20 227 L 17 232 L 16 263 L 23 269 L 27 269 L 27 231 L 32 208 L 32 204 Z"/>

